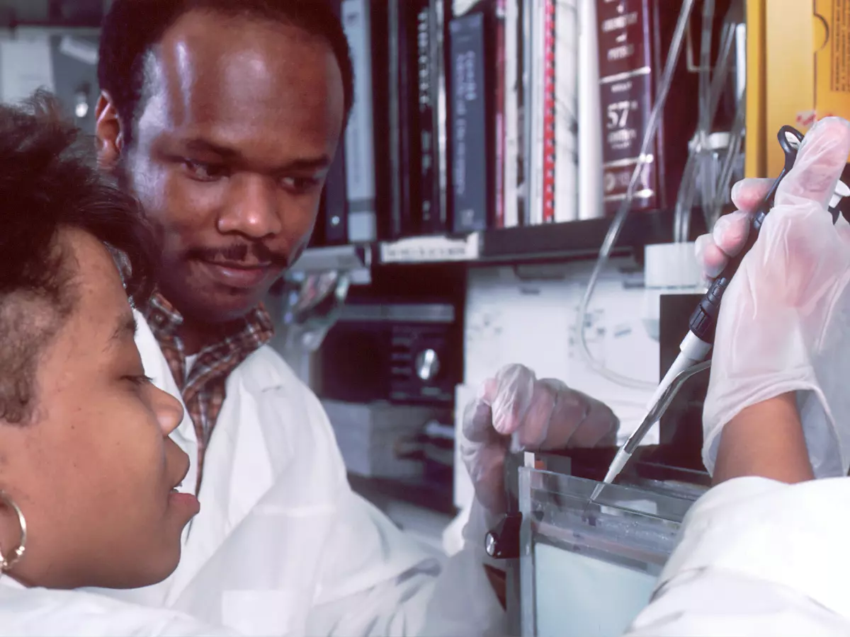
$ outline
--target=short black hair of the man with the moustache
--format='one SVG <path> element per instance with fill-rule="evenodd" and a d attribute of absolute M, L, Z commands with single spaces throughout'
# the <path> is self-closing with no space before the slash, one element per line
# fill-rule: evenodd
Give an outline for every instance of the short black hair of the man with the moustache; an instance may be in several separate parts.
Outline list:
<path fill-rule="evenodd" d="M 343 122 L 354 103 L 354 70 L 343 24 L 328 0 L 115 0 L 100 27 L 98 81 L 116 105 L 132 143 L 133 127 L 144 95 L 144 63 L 168 27 L 191 10 L 247 16 L 297 26 L 324 37 L 343 76 Z"/>

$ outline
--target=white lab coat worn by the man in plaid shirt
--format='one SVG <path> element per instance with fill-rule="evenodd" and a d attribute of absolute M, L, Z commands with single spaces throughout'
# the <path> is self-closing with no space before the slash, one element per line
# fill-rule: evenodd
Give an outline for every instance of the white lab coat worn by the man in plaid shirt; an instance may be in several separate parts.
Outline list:
<path fill-rule="evenodd" d="M 178 395 L 137 319 L 145 372 Z M 173 439 L 197 457 L 188 417 Z M 194 491 L 194 478 L 193 466 L 184 489 Z M 247 635 L 501 630 L 503 612 L 475 551 L 435 555 L 352 492 L 318 398 L 270 347 L 227 380 L 199 497 L 173 576 L 106 594 Z"/>

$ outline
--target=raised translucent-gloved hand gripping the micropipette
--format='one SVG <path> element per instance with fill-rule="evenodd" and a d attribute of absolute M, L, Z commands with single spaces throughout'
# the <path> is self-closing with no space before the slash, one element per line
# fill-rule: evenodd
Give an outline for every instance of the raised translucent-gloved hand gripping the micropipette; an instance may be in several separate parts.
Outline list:
<path fill-rule="evenodd" d="M 713 471 L 723 426 L 745 407 L 797 392 L 814 475 L 850 464 L 850 225 L 826 207 L 850 153 L 850 124 L 827 118 L 808 132 L 774 209 L 723 296 L 703 412 L 703 460 Z M 739 211 L 697 241 L 708 277 L 747 237 L 771 179 L 735 184 Z"/>

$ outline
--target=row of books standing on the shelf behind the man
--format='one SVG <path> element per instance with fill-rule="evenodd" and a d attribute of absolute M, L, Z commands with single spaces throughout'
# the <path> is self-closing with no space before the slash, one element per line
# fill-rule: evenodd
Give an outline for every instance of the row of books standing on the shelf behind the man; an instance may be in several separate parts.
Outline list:
<path fill-rule="evenodd" d="M 681 0 L 331 0 L 355 103 L 314 245 L 602 217 L 638 162 L 634 208 L 672 206 L 707 1 L 641 156 Z M 711 1 L 717 40 L 731 0 Z"/>

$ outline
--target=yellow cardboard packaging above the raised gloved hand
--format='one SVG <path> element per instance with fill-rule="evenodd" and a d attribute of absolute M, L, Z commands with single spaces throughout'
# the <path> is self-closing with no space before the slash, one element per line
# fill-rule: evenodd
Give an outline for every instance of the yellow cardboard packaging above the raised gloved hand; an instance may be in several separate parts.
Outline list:
<path fill-rule="evenodd" d="M 748 177 L 773 177 L 779 127 L 850 119 L 850 0 L 747 0 Z"/>

